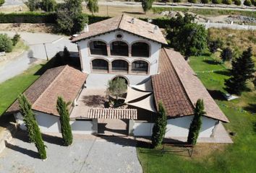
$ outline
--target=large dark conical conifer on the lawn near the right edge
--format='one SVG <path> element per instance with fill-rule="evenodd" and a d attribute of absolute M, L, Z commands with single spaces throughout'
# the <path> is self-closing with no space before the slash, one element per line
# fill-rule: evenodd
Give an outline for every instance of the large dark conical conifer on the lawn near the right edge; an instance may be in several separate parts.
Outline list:
<path fill-rule="evenodd" d="M 247 79 L 252 79 L 255 72 L 252 61 L 252 48 L 244 50 L 242 56 L 232 61 L 231 77 L 225 80 L 225 89 L 229 94 L 240 95 L 246 89 Z"/>

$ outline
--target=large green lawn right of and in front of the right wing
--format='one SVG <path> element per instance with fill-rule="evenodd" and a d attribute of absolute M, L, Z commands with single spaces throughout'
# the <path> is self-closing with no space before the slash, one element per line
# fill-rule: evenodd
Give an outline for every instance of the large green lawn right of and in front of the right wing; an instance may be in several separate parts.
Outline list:
<path fill-rule="evenodd" d="M 137 148 L 144 172 L 256 172 L 256 114 L 252 114 L 256 111 L 256 91 L 244 92 L 230 102 L 223 100 L 220 93 L 224 92 L 223 81 L 229 78 L 228 71 L 202 73 L 223 68 L 221 64 L 213 64 L 213 60 L 200 56 L 190 58 L 189 63 L 229 118 L 231 123 L 225 127 L 236 133 L 232 137 L 234 144 L 199 144 L 192 158 L 174 154 L 162 157 L 153 149 Z"/>

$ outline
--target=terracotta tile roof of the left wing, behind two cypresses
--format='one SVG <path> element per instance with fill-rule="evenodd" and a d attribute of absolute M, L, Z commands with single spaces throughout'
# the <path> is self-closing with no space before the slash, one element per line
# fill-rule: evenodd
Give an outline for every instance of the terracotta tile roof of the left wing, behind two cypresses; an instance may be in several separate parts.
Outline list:
<path fill-rule="evenodd" d="M 27 88 L 24 94 L 32 104 L 33 110 L 58 116 L 56 110 L 58 96 L 63 97 L 67 102 L 73 102 L 86 78 L 87 74 L 70 66 L 51 68 Z M 16 100 L 7 112 L 17 111 L 19 105 Z"/>

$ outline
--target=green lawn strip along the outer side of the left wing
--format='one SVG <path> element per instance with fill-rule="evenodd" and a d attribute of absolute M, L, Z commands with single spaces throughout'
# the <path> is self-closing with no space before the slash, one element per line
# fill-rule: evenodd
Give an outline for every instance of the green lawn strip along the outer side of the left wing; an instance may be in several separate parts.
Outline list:
<path fill-rule="evenodd" d="M 43 64 L 45 63 L 46 62 L 43 61 Z M 14 76 L 12 79 L 0 84 L 0 116 L 7 110 L 9 105 L 17 99 L 18 94 L 24 92 L 30 84 L 33 84 L 33 82 L 38 79 L 41 73 L 37 72 L 42 66 L 42 64 L 31 66 L 22 74 Z"/>

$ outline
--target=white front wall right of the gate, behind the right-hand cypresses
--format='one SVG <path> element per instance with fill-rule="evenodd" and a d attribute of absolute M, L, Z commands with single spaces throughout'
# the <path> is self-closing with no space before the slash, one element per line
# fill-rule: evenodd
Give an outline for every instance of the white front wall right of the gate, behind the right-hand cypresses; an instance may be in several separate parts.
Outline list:
<path fill-rule="evenodd" d="M 167 120 L 166 125 L 166 138 L 171 137 L 185 137 L 187 138 L 189 133 L 189 125 L 193 116 L 179 117 Z M 213 130 L 218 123 L 218 120 L 213 120 L 208 117 L 202 117 L 202 127 L 199 137 L 211 137 Z M 133 125 L 134 136 L 151 136 L 153 123 L 145 123 L 135 121 Z"/>

